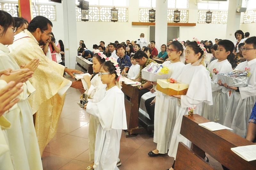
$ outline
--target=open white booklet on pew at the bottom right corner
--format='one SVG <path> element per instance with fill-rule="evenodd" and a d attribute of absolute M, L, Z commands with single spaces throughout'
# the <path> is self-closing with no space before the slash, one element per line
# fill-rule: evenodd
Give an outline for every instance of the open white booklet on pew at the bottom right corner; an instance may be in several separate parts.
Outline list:
<path fill-rule="evenodd" d="M 231 148 L 231 151 L 246 161 L 256 160 L 256 145 L 238 146 Z"/>

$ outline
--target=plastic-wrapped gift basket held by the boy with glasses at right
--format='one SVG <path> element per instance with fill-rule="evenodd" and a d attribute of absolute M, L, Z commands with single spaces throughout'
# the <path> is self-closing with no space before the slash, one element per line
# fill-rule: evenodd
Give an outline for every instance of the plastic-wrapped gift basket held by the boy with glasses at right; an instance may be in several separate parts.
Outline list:
<path fill-rule="evenodd" d="M 228 73 L 218 73 L 218 80 L 220 79 L 221 83 L 227 83 L 231 87 L 246 87 L 249 75 L 250 72 L 248 70 L 235 69 Z"/>

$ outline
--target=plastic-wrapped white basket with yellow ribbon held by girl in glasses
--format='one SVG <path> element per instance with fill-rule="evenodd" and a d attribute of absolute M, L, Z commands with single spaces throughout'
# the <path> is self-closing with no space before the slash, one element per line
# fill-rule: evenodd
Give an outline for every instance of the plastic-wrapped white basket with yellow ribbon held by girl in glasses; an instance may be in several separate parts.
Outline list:
<path fill-rule="evenodd" d="M 162 64 L 152 62 L 141 70 L 141 74 L 142 79 L 148 81 L 157 81 L 157 79 L 169 78 L 170 72 L 169 68 L 163 66 Z"/>

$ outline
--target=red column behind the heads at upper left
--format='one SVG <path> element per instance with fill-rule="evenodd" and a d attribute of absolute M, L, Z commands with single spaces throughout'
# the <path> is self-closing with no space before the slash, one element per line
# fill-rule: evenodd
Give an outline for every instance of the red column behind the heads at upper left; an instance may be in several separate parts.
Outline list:
<path fill-rule="evenodd" d="M 28 20 L 32 19 L 32 5 L 31 0 L 19 0 L 19 15 Z"/>

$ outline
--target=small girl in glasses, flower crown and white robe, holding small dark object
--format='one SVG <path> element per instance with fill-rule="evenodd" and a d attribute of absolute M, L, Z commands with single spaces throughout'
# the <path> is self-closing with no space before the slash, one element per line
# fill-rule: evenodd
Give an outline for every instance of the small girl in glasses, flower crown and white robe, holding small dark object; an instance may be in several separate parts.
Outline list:
<path fill-rule="evenodd" d="M 116 162 L 120 150 L 122 129 L 127 129 L 124 108 L 124 93 L 120 89 L 121 70 L 116 59 L 110 57 L 100 67 L 100 77 L 103 84 L 93 96 L 88 99 L 84 109 L 93 115 L 99 123 L 96 142 L 94 165 L 95 170 L 117 170 Z"/>

